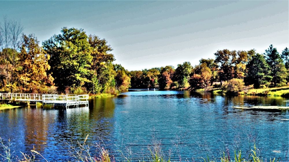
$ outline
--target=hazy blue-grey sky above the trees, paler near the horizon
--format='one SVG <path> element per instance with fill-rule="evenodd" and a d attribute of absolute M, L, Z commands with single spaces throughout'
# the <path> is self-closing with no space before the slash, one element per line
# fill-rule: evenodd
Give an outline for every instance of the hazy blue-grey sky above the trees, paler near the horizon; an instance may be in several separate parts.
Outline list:
<path fill-rule="evenodd" d="M 61 28 L 106 39 L 127 70 L 214 58 L 217 50 L 289 47 L 289 1 L 1 1 L 1 16 L 20 20 L 40 43 Z"/>

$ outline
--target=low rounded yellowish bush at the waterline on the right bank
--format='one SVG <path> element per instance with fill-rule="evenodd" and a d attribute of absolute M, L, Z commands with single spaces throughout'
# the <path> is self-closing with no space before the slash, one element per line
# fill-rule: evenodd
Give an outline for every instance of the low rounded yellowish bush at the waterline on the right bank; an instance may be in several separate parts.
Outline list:
<path fill-rule="evenodd" d="M 223 89 L 227 93 L 234 93 L 237 94 L 238 92 L 241 92 L 244 87 L 244 82 L 242 79 L 231 79 L 229 81 L 225 81 L 223 84 Z"/>

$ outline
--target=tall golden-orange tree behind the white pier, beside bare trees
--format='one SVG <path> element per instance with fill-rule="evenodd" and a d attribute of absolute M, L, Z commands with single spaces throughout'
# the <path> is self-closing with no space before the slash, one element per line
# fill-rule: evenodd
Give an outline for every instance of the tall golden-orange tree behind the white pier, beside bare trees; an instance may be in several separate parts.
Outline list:
<path fill-rule="evenodd" d="M 49 55 L 38 45 L 37 38 L 24 35 L 19 56 L 19 83 L 25 92 L 37 92 L 43 85 L 53 85 L 53 77 L 47 75 Z"/>

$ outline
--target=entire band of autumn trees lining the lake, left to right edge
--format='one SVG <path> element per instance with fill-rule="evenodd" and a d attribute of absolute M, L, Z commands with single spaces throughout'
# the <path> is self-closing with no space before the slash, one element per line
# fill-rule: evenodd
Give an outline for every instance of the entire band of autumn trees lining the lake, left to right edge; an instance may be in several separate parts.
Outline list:
<path fill-rule="evenodd" d="M 104 38 L 83 29 L 61 29 L 40 44 L 34 34 L 23 34 L 19 21 L 0 24 L 0 91 L 42 94 L 117 94 L 127 89 L 202 89 L 218 82 L 229 92 L 240 87 L 279 87 L 289 81 L 289 50 L 270 45 L 255 49 L 218 50 L 215 58 L 198 65 L 128 71 L 114 64 L 112 47 Z M 215 85 L 217 87 L 217 85 Z"/>

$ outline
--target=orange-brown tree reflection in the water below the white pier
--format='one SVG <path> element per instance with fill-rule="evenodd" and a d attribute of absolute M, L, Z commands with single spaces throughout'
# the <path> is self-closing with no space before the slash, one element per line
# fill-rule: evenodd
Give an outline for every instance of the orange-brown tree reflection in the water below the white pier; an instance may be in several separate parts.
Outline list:
<path fill-rule="evenodd" d="M 55 116 L 43 114 L 45 114 L 45 110 L 31 108 L 30 106 L 23 111 L 26 125 L 25 145 L 29 150 L 33 149 L 33 146 L 40 152 L 46 148 L 49 124 L 54 121 Z"/>

